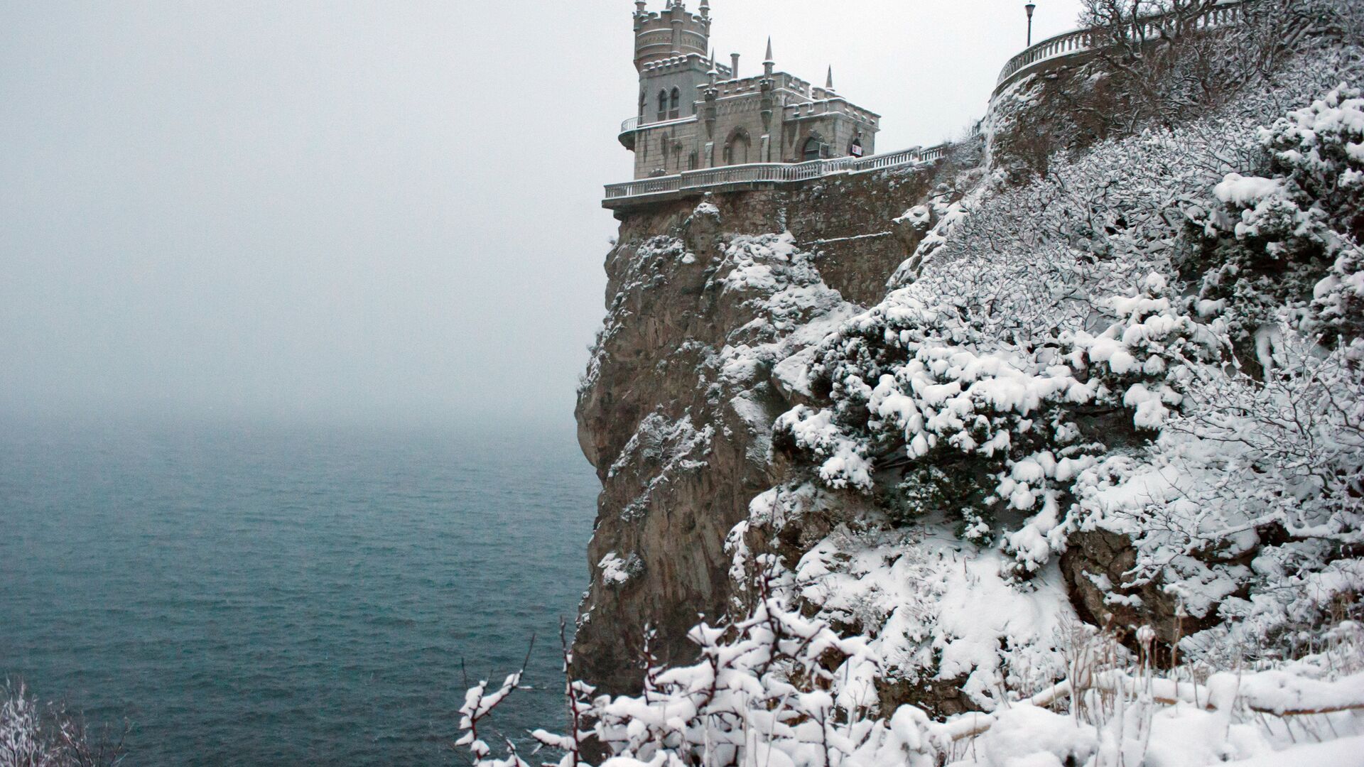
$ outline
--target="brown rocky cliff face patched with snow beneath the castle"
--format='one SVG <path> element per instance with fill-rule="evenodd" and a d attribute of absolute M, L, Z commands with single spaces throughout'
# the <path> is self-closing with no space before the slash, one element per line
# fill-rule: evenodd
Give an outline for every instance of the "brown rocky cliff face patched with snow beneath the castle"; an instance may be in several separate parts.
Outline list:
<path fill-rule="evenodd" d="M 934 176 L 846 176 L 623 214 L 577 407 L 603 486 L 576 641 L 582 678 L 632 691 L 645 626 L 659 662 L 685 661 L 698 614 L 726 611 L 726 536 L 783 479 L 771 424 L 809 394 L 809 347 L 880 300 L 926 232 L 932 213 L 906 212 Z"/>

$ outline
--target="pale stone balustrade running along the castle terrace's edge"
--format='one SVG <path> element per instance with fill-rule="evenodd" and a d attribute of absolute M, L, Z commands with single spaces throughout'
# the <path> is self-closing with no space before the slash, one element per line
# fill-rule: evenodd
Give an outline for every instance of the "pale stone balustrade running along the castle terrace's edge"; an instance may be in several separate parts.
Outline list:
<path fill-rule="evenodd" d="M 947 156 L 951 145 L 943 143 L 929 149 L 906 149 L 872 157 L 836 157 L 833 160 L 812 160 L 809 162 L 754 162 L 749 165 L 727 165 L 687 171 L 675 176 L 638 179 L 623 184 L 606 187 L 607 201 L 655 194 L 681 192 L 743 183 L 790 183 L 818 179 L 835 173 L 862 173 L 884 171 L 902 165 L 932 162 Z"/>

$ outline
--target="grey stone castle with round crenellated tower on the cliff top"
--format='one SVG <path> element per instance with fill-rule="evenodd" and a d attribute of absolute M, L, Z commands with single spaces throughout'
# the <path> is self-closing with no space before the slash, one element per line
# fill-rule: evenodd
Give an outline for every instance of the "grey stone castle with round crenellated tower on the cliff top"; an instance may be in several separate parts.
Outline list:
<path fill-rule="evenodd" d="M 634 3 L 640 100 L 621 127 L 634 177 L 671 176 L 753 162 L 805 162 L 874 154 L 880 116 L 833 90 L 776 71 L 768 41 L 762 72 L 739 76 L 739 56 L 719 64 L 711 49 L 711 3 L 685 0 L 651 12 Z"/>

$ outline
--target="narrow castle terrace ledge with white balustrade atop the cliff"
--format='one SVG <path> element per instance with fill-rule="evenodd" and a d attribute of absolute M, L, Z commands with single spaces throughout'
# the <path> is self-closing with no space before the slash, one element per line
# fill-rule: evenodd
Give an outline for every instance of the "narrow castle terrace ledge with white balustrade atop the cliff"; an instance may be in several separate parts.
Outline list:
<path fill-rule="evenodd" d="M 675 176 L 637 179 L 623 184 L 606 187 L 602 207 L 615 212 L 644 207 L 659 202 L 700 197 L 707 192 L 735 192 L 772 188 L 777 184 L 807 182 L 836 173 L 866 173 L 910 168 L 934 162 L 947 156 L 951 145 L 943 143 L 929 149 L 914 147 L 872 157 L 837 157 L 833 160 L 812 160 L 809 162 L 753 162 L 749 165 L 727 165 L 687 171 Z"/>

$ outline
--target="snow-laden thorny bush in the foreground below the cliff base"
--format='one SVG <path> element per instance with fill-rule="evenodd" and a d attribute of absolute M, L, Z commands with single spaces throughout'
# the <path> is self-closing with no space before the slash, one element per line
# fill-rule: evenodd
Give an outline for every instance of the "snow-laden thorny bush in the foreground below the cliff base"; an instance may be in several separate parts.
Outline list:
<path fill-rule="evenodd" d="M 604 751 L 603 764 L 612 767 L 937 764 L 944 738 L 922 711 L 872 715 L 877 661 L 866 643 L 802 617 L 788 579 L 768 587 L 743 621 L 696 626 L 690 639 L 701 659 L 649 669 L 638 696 L 593 699 L 591 686 L 570 682 L 573 730 L 542 729 L 535 738 L 563 753 L 562 767 L 585 764 L 593 749 Z M 518 688 L 520 674 L 513 674 L 495 692 L 487 682 L 468 692 L 458 744 L 480 767 L 527 764 L 512 744 L 506 757 L 494 757 L 479 736 L 480 722 Z"/>

